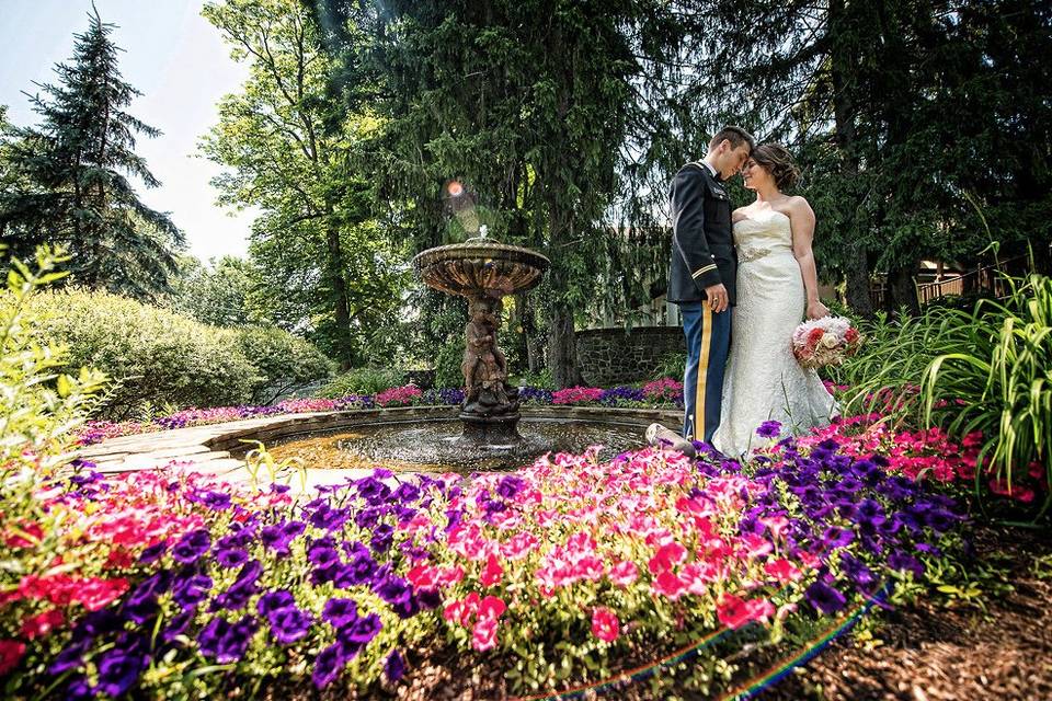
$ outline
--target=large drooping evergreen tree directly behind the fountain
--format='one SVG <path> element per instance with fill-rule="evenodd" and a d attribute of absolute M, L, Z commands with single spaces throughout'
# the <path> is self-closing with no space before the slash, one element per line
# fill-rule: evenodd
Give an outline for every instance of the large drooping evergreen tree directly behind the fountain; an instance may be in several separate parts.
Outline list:
<path fill-rule="evenodd" d="M 661 261 L 660 276 L 667 266 L 666 244 L 632 239 L 653 227 L 610 222 L 624 147 L 652 110 L 636 90 L 647 70 L 639 56 L 677 39 L 675 11 L 647 0 L 315 4 L 341 58 L 334 82 L 348 112 L 382 117 L 376 189 L 398 207 L 414 249 L 487 223 L 547 253 L 552 269 L 537 297 L 549 367 L 560 386 L 581 382 L 575 319 L 597 300 L 643 301 L 641 251 Z M 449 206 L 451 180 L 478 196 L 474 217 Z M 448 331 L 433 335 L 447 342 Z"/>

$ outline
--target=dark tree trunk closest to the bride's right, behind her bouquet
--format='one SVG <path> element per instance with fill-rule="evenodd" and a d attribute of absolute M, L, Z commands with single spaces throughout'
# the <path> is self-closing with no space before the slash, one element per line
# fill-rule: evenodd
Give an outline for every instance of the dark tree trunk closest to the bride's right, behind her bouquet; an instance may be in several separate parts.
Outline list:
<path fill-rule="evenodd" d="M 856 153 L 855 104 L 849 85 L 853 70 L 851 42 L 846 36 L 850 31 L 848 19 L 844 15 L 844 0 L 832 0 L 828 10 L 828 34 L 832 43 L 830 51 L 833 79 L 833 113 L 836 123 L 836 145 L 841 151 L 841 172 L 846 179 L 858 177 L 858 156 Z M 860 231 L 846 232 L 847 242 L 844 256 L 847 303 L 859 314 L 871 317 L 873 304 L 869 296 L 869 262 L 866 257 L 866 242 Z"/>

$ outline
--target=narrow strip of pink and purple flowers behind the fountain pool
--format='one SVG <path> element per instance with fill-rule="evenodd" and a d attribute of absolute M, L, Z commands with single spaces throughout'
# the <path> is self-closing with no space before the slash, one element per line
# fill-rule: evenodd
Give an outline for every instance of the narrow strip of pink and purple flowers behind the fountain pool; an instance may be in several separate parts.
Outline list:
<path fill-rule="evenodd" d="M 642 389 L 615 387 L 610 389 L 575 387 L 552 392 L 525 387 L 519 389 L 519 400 L 527 405 L 574 406 L 678 406 L 683 407 L 683 384 L 671 378 L 656 380 Z M 375 409 L 390 406 L 458 406 L 464 402 L 464 390 L 442 389 L 421 391 L 413 384 L 396 387 L 375 395 L 352 394 L 341 399 L 290 399 L 272 406 L 218 406 L 215 409 L 187 409 L 150 421 L 88 422 L 79 434 L 81 445 L 92 445 L 107 438 L 137 434 L 205 426 L 258 416 L 297 414 L 305 412 L 331 412 L 347 409 Z"/>

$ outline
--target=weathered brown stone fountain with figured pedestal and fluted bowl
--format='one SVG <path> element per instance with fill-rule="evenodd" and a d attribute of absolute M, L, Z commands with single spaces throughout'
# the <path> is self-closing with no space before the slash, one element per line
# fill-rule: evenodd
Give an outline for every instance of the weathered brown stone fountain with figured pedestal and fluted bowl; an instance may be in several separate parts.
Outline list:
<path fill-rule="evenodd" d="M 428 249 L 413 267 L 428 286 L 468 300 L 465 326 L 464 424 L 457 444 L 464 448 L 514 449 L 523 443 L 517 430 L 518 390 L 507 383 L 507 363 L 498 345 L 503 299 L 540 283 L 551 262 L 529 249 L 481 235 L 464 243 Z"/>

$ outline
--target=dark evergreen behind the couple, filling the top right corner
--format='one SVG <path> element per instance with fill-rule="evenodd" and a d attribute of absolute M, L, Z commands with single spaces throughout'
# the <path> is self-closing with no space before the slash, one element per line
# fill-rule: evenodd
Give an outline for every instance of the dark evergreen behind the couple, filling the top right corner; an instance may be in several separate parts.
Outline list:
<path fill-rule="evenodd" d="M 1049 241 L 1052 10 L 1036 0 L 719 0 L 679 72 L 706 118 L 752 112 L 794 145 L 823 273 L 870 311 L 916 304 L 922 257 L 974 262 L 991 238 Z M 987 231 L 986 223 L 991 225 Z"/>

